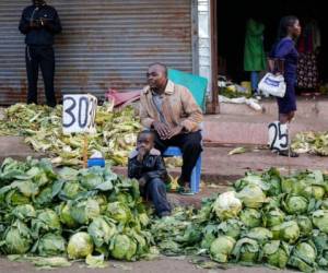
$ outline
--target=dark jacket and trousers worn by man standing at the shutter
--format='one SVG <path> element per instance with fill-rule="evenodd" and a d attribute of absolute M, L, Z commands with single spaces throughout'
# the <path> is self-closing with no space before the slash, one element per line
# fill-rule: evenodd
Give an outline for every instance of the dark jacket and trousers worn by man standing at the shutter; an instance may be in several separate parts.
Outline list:
<path fill-rule="evenodd" d="M 45 22 L 42 24 L 40 19 Z M 35 26 L 31 26 L 35 22 Z M 54 35 L 61 32 L 61 24 L 57 11 L 47 4 L 30 5 L 24 9 L 20 22 L 20 31 L 25 34 L 25 59 L 28 81 L 27 104 L 37 104 L 37 76 L 40 67 L 47 105 L 56 106 L 54 90 L 55 55 Z"/>

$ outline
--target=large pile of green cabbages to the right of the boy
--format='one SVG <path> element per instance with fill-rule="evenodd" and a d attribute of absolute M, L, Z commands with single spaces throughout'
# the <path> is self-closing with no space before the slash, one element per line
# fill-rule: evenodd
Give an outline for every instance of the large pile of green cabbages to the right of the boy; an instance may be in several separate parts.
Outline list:
<path fill-rule="evenodd" d="M 328 176 L 277 169 L 247 174 L 234 189 L 152 225 L 163 253 L 201 254 L 219 263 L 328 270 Z"/>

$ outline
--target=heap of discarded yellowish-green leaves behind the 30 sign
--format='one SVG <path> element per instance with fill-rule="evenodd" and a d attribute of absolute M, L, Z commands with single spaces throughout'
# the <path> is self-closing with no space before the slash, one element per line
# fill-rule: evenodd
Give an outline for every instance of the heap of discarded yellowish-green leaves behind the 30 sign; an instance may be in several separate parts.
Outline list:
<path fill-rule="evenodd" d="M 46 153 L 57 166 L 81 166 L 82 134 L 62 134 L 62 106 L 16 104 L 5 109 L 0 120 L 0 135 L 22 135 L 36 152 Z M 112 165 L 127 165 L 140 122 L 132 107 L 113 111 L 109 104 L 96 112 L 97 133 L 89 136 L 89 152 L 99 151 Z"/>

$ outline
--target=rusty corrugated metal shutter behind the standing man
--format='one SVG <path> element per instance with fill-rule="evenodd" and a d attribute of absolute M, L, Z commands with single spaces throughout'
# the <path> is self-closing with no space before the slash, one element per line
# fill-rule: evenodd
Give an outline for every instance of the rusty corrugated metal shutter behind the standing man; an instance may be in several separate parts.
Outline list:
<path fill-rule="evenodd" d="M 17 31 L 27 0 L 0 1 L 0 104 L 25 102 L 24 35 Z M 141 88 L 147 67 L 161 61 L 192 71 L 190 0 L 49 0 L 63 32 L 55 44 L 57 94 L 108 87 Z M 40 97 L 44 97 L 39 76 Z"/>

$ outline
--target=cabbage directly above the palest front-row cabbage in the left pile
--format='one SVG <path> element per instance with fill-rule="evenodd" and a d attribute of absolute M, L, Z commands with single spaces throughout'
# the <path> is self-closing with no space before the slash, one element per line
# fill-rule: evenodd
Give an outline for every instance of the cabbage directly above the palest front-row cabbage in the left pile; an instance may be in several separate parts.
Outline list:
<path fill-rule="evenodd" d="M 73 202 L 70 206 L 72 218 L 79 224 L 89 224 L 101 214 L 101 207 L 96 200 L 86 199 Z"/>

